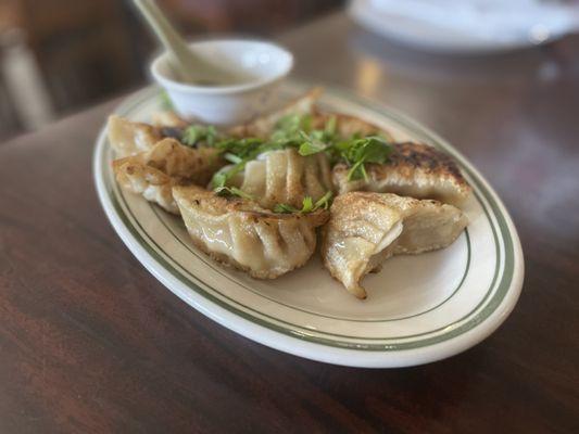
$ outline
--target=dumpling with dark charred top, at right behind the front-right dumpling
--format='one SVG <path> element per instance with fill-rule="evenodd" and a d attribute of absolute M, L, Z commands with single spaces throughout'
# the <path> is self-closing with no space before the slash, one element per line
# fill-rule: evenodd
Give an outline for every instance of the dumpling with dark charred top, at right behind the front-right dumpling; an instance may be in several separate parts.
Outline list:
<path fill-rule="evenodd" d="M 397 193 L 456 206 L 468 199 L 470 187 L 449 155 L 419 143 L 395 143 L 392 146 L 387 163 L 366 164 L 367 180 L 348 181 L 349 167 L 344 163 L 337 164 L 332 178 L 338 192 Z"/>

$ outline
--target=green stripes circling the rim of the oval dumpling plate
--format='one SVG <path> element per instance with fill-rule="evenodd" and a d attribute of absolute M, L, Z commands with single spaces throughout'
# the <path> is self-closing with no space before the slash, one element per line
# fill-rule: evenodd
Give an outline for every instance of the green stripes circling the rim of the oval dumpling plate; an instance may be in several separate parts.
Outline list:
<path fill-rule="evenodd" d="M 158 94 L 158 92 L 159 91 L 156 89 L 148 89 L 148 90 L 143 91 L 142 93 L 136 95 L 135 99 L 128 100 L 125 104 L 123 104 L 118 108 L 118 113 L 119 114 L 124 114 L 124 115 L 129 114 L 129 112 L 133 111 L 133 108 L 135 106 L 139 105 L 140 103 L 142 103 L 143 100 L 148 100 L 150 98 L 153 98 L 155 94 Z M 330 94 L 344 94 L 341 91 L 340 92 L 339 91 L 330 91 L 329 93 Z M 206 290 L 202 289 L 200 286 L 200 283 L 203 284 L 203 282 L 201 282 L 199 280 L 199 278 L 190 275 L 185 269 L 182 271 L 177 270 L 175 268 L 175 266 L 169 263 L 169 260 L 172 260 L 172 258 L 165 252 L 163 252 L 164 254 L 162 255 L 159 252 L 156 252 L 154 248 L 152 248 L 151 247 L 151 243 L 154 243 L 154 241 L 151 240 L 148 237 L 148 234 L 144 232 L 142 227 L 140 228 L 142 230 L 142 234 L 139 233 L 140 231 L 137 230 L 135 224 L 137 224 L 137 226 L 139 226 L 139 227 L 140 227 L 140 225 L 136 220 L 135 216 L 131 215 L 128 205 L 126 203 L 124 203 L 124 205 L 126 207 L 125 209 L 123 209 L 123 207 L 119 205 L 119 203 L 117 201 L 118 197 L 123 202 L 125 202 L 125 201 L 124 201 L 124 196 L 122 194 L 117 195 L 118 192 L 115 189 L 116 186 L 113 187 L 113 189 L 111 190 L 111 179 L 112 179 L 112 177 L 111 177 L 111 174 L 110 174 L 110 170 L 109 170 L 109 174 L 102 174 L 102 175 L 108 175 L 108 176 L 104 176 L 104 180 L 108 183 L 108 192 L 109 192 L 110 199 L 112 200 L 113 205 L 114 205 L 118 216 L 121 217 L 123 224 L 129 230 L 129 232 L 133 234 L 135 240 L 139 242 L 139 244 L 151 255 L 151 257 L 159 265 L 161 265 L 165 270 L 171 272 L 172 276 L 177 278 L 179 281 L 181 281 L 184 284 L 186 284 L 188 288 L 190 288 L 191 290 L 193 290 L 198 294 L 200 294 L 203 297 L 207 298 L 209 301 L 215 303 L 216 305 L 229 310 L 232 314 L 236 314 L 236 315 L 240 316 L 241 318 L 244 318 L 244 319 L 247 319 L 247 320 L 249 320 L 251 322 L 257 323 L 257 324 L 260 324 L 262 327 L 268 328 L 268 329 L 274 330 L 276 332 L 279 332 L 279 333 L 282 333 L 282 334 L 286 334 L 286 335 L 289 335 L 289 336 L 298 337 L 298 339 L 301 339 L 301 340 L 305 340 L 305 341 L 309 341 L 309 342 L 314 342 L 314 343 L 322 344 L 322 345 L 332 346 L 332 347 L 350 348 L 350 349 L 362 349 L 362 350 L 375 350 L 375 352 L 418 348 L 418 347 L 423 347 L 423 346 L 427 346 L 427 345 L 433 345 L 433 344 L 446 341 L 446 340 L 452 339 L 452 337 L 454 337 L 456 335 L 460 335 L 462 333 L 467 332 L 468 330 L 473 329 L 478 323 L 483 321 L 487 317 L 489 317 L 496 309 L 496 307 L 504 299 L 504 296 L 506 295 L 506 292 L 508 291 L 508 288 L 509 288 L 512 279 L 513 279 L 513 273 L 514 273 L 514 246 L 513 246 L 513 240 L 512 240 L 511 233 L 508 231 L 506 219 L 505 219 L 504 215 L 501 213 L 498 203 L 492 197 L 492 194 L 490 194 L 490 192 L 482 184 L 482 182 L 478 179 L 478 177 L 465 165 L 464 158 L 450 144 L 445 143 L 442 139 L 438 138 L 436 135 L 430 133 L 429 131 L 425 130 L 424 127 L 416 125 L 415 123 L 406 119 L 405 117 L 403 117 L 403 116 L 401 116 L 401 115 L 399 115 L 399 114 L 397 114 L 394 112 L 390 112 L 390 111 L 383 110 L 381 107 L 376 107 L 375 105 L 372 105 L 372 104 L 369 104 L 368 102 L 365 102 L 362 99 L 353 98 L 350 94 L 347 94 L 347 99 L 351 100 L 351 101 L 354 101 L 355 103 L 357 103 L 360 105 L 363 105 L 366 108 L 369 108 L 369 110 L 372 110 L 374 112 L 378 112 L 378 113 L 380 113 L 380 114 L 382 114 L 385 116 L 390 117 L 394 122 L 398 122 L 399 124 L 403 125 L 404 127 L 411 129 L 413 132 L 415 132 L 415 133 L 418 132 L 420 136 L 423 136 L 424 139 L 426 139 L 427 142 L 432 143 L 432 144 L 435 144 L 435 145 L 437 145 L 439 148 L 442 148 L 446 152 L 453 154 L 457 158 L 457 161 L 461 163 L 461 166 L 462 166 L 463 170 L 465 170 L 468 174 L 468 176 L 471 179 L 471 181 L 474 181 L 474 183 L 475 183 L 474 187 L 476 187 L 476 190 L 479 190 L 480 193 L 484 196 L 484 199 L 489 202 L 489 205 L 490 205 L 492 212 L 494 213 L 494 216 L 496 217 L 496 220 L 498 220 L 498 224 L 499 224 L 499 230 L 500 230 L 501 234 L 503 235 L 504 250 L 505 250 L 505 263 L 504 263 L 504 272 L 503 272 L 503 276 L 501 278 L 501 281 L 499 282 L 498 289 L 494 292 L 494 295 L 491 297 L 491 293 L 492 293 L 494 283 L 495 283 L 495 281 L 498 279 L 498 273 L 499 273 L 500 264 L 501 264 L 501 261 L 500 261 L 501 252 L 500 252 L 500 247 L 499 247 L 499 238 L 498 238 L 498 234 L 496 234 L 495 225 L 494 225 L 493 220 L 490 217 L 489 210 L 487 209 L 487 206 L 484 205 L 484 201 L 481 200 L 479 194 L 476 194 L 477 200 L 481 204 L 481 206 L 482 206 L 482 208 L 484 210 L 484 214 L 486 214 L 486 216 L 489 219 L 489 222 L 491 225 L 491 228 L 492 228 L 492 231 L 493 231 L 493 238 L 494 238 L 494 242 L 495 242 L 495 248 L 496 248 L 496 258 L 498 258 L 495 272 L 494 272 L 494 276 L 493 276 L 493 281 L 492 281 L 492 284 L 489 288 L 489 291 L 487 292 L 486 296 L 477 305 L 477 307 L 475 309 L 473 309 L 471 312 L 467 314 L 466 316 L 464 316 L 460 320 L 454 321 L 453 323 L 445 326 L 444 328 L 440 328 L 438 330 L 429 331 L 429 332 L 426 332 L 426 333 L 420 333 L 420 334 L 414 335 L 414 336 L 397 336 L 397 337 L 388 339 L 388 341 L 397 341 L 397 340 L 402 340 L 402 339 L 423 336 L 423 335 L 427 335 L 427 334 L 437 333 L 438 331 L 446 330 L 444 333 L 441 333 L 441 334 L 438 334 L 438 335 L 435 335 L 435 336 L 425 337 L 425 339 L 417 340 L 417 341 L 412 341 L 412 342 L 398 342 L 398 343 L 393 342 L 393 343 L 382 343 L 382 344 L 367 343 L 366 341 L 375 341 L 375 340 L 386 341 L 387 339 L 362 339 L 362 337 L 357 337 L 357 336 L 342 336 L 342 335 L 337 335 L 337 334 L 332 334 L 332 333 L 313 333 L 312 331 L 310 331 L 307 329 L 303 329 L 301 326 L 286 323 L 287 326 L 290 326 L 291 328 L 293 328 L 293 329 L 291 329 L 291 328 L 287 328 L 287 327 L 284 327 L 284 326 L 279 326 L 278 322 L 285 323 L 284 321 L 279 321 L 276 318 L 267 317 L 263 312 L 260 312 L 260 311 L 256 311 L 254 309 L 251 309 L 250 307 L 240 305 L 243 308 L 246 308 L 246 309 L 248 309 L 250 311 L 253 311 L 254 314 L 256 314 L 259 316 L 265 316 L 266 318 L 270 319 L 270 321 L 266 321 L 266 320 L 264 320 L 264 319 L 262 319 L 262 318 L 260 318 L 260 317 L 257 317 L 255 315 L 248 314 L 243 309 L 240 309 L 240 308 L 238 308 L 238 307 L 236 307 L 236 306 L 234 306 L 234 305 L 231 305 L 229 303 L 225 303 L 219 297 L 217 297 L 214 294 L 212 294 L 212 293 L 207 292 Z M 102 152 L 102 157 L 104 159 L 103 167 L 109 167 L 109 165 L 106 164 L 108 162 L 104 158 L 105 157 L 104 149 L 103 149 L 103 152 Z M 130 217 L 135 221 L 130 221 L 127 218 L 127 214 L 126 214 L 127 212 L 131 215 Z M 150 242 L 147 242 L 147 240 L 143 238 L 143 235 L 149 238 Z M 158 246 L 158 248 L 160 248 L 160 247 Z M 179 267 L 179 268 L 181 268 L 181 267 Z M 186 279 L 185 278 L 184 271 L 190 275 L 190 279 Z M 218 290 L 216 290 L 214 288 L 211 288 L 211 286 L 209 286 L 206 284 L 203 284 L 203 285 L 207 286 L 212 291 L 215 291 L 217 294 L 219 294 Z M 222 297 L 224 297 L 223 294 L 219 294 L 219 295 Z M 489 301 L 489 298 L 490 298 L 490 301 Z M 230 298 L 229 298 L 229 301 L 232 302 L 234 304 L 238 304 L 238 302 L 235 302 L 235 301 L 232 301 Z M 484 305 L 484 303 L 487 301 L 489 301 L 489 303 Z M 418 315 L 420 315 L 420 314 L 418 314 Z M 463 321 L 465 321 L 465 322 L 460 324 Z M 357 341 L 363 341 L 363 342 L 349 342 L 349 341 L 341 341 L 341 340 L 336 340 L 336 339 L 328 339 L 328 337 L 325 337 L 325 336 L 347 337 L 347 339 L 352 339 L 352 340 L 357 340 Z"/>

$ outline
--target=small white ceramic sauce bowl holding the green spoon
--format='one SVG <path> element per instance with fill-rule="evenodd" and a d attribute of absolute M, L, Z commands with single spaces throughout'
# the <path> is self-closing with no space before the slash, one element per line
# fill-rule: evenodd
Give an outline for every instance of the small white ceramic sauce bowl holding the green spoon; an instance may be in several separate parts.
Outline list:
<path fill-rule="evenodd" d="M 241 124 L 267 112 L 276 103 L 278 85 L 293 67 L 293 55 L 272 42 L 219 39 L 189 47 L 205 62 L 235 72 L 235 81 L 185 82 L 166 52 L 153 61 L 151 73 L 179 115 L 207 124 Z"/>

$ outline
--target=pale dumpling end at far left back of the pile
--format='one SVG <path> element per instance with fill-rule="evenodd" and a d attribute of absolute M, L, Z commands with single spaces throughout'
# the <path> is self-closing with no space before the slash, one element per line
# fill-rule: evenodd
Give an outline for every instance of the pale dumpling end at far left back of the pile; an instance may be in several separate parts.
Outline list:
<path fill-rule="evenodd" d="M 161 132 L 155 127 L 116 115 L 109 117 L 106 129 L 109 141 L 119 158 L 149 151 L 162 139 Z"/>

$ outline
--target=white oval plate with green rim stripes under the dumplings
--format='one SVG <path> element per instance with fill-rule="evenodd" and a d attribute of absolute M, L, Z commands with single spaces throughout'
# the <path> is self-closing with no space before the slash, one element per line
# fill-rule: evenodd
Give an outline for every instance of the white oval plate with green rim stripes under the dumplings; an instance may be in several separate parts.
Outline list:
<path fill-rule="evenodd" d="M 292 84 L 282 98 L 303 92 Z M 320 103 L 374 122 L 399 140 L 432 144 L 452 154 L 474 188 L 470 224 L 450 247 L 386 261 L 364 280 L 366 301 L 330 278 L 317 255 L 276 280 L 255 280 L 224 268 L 193 246 L 178 217 L 118 189 L 103 129 L 95 151 L 95 180 L 114 229 L 167 289 L 211 319 L 287 353 L 355 367 L 403 367 L 439 360 L 492 333 L 515 306 L 523 253 L 503 204 L 480 174 L 449 143 L 376 103 L 327 90 Z M 115 113 L 150 119 L 158 89 L 128 98 Z"/>

